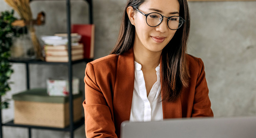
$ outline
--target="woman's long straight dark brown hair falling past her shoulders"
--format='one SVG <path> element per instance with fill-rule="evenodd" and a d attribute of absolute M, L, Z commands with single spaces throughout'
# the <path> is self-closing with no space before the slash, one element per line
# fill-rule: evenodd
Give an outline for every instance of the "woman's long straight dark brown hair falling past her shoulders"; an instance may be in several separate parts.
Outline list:
<path fill-rule="evenodd" d="M 115 47 L 110 54 L 122 54 L 133 47 L 135 26 L 128 18 L 126 8 L 132 6 L 138 8 L 146 0 L 127 0 L 123 12 L 119 36 Z M 190 15 L 187 0 L 178 0 L 180 4 L 180 17 L 186 22 L 179 28 L 170 42 L 162 50 L 161 86 L 166 86 L 166 94 L 163 101 L 174 102 L 178 98 L 182 87 L 189 83 L 189 71 L 186 62 L 187 42 L 190 29 Z M 135 10 L 136 11 L 136 10 Z"/>

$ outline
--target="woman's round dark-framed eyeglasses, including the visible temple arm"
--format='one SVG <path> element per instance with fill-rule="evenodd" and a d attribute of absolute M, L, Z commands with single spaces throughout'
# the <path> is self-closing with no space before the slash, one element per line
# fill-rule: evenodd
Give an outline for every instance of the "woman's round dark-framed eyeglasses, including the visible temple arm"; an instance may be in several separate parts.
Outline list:
<path fill-rule="evenodd" d="M 150 27 L 156 27 L 156 26 L 160 25 L 165 17 L 157 12 L 151 12 L 151 13 L 145 14 L 142 11 L 140 11 L 139 9 L 137 9 L 137 8 L 135 8 L 135 9 L 138 10 L 142 15 L 144 15 L 146 17 L 147 25 Z M 185 20 L 179 16 L 170 16 L 170 17 L 165 17 L 165 18 L 167 18 L 167 26 L 171 30 L 177 30 L 182 26 L 183 23 L 185 23 Z"/>

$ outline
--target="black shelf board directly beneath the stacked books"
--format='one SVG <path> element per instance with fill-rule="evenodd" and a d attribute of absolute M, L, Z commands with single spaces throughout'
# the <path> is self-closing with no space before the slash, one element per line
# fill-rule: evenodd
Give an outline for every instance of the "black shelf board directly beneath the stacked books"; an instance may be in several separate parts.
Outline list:
<path fill-rule="evenodd" d="M 93 59 L 81 59 L 72 61 L 72 64 L 81 63 L 81 62 L 91 62 Z M 36 59 L 10 59 L 11 63 L 29 63 L 29 64 L 65 64 L 68 65 L 68 62 L 45 62 L 42 60 L 36 60 Z"/>

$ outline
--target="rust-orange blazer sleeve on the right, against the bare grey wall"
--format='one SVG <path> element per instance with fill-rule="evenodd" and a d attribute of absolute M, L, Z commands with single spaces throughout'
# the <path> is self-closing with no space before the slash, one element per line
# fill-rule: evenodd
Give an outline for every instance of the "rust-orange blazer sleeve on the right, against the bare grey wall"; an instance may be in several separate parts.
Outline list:
<path fill-rule="evenodd" d="M 191 117 L 212 116 L 211 102 L 208 96 L 209 89 L 205 78 L 204 63 L 202 59 L 198 59 L 199 73 L 196 80 L 194 102 Z"/>

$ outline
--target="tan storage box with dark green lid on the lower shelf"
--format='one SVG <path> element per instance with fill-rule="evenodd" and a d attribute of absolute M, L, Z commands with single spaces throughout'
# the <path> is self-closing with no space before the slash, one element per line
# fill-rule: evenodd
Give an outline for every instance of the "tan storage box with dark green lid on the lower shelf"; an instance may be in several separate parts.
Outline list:
<path fill-rule="evenodd" d="M 69 125 L 68 97 L 48 96 L 46 89 L 33 89 L 13 95 L 14 123 L 65 128 Z M 82 96 L 73 96 L 73 121 L 82 118 Z M 22 100 L 22 101 L 21 101 Z"/>

